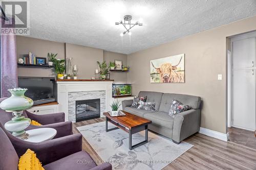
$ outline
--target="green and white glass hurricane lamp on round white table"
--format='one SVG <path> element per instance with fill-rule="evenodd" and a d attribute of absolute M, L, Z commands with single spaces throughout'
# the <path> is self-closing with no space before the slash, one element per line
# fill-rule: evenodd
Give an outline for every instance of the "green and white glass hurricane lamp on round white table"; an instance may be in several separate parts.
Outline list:
<path fill-rule="evenodd" d="M 25 129 L 30 125 L 30 118 L 22 116 L 23 110 L 29 109 L 33 106 L 32 99 L 26 97 L 24 93 L 28 89 L 26 88 L 14 88 L 8 91 L 12 94 L 10 98 L 0 103 L 0 108 L 7 112 L 12 112 L 14 117 L 12 120 L 5 124 L 6 130 L 12 132 L 14 136 L 18 136 L 23 139 L 28 138 L 28 134 L 25 133 Z"/>

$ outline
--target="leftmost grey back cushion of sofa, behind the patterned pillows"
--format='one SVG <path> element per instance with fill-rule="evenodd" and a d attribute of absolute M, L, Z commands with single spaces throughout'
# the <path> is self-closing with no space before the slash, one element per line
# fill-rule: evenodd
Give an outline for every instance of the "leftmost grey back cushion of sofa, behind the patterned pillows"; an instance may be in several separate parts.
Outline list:
<path fill-rule="evenodd" d="M 155 110 L 159 110 L 163 93 L 155 91 L 140 91 L 138 96 L 146 96 L 146 102 L 155 103 Z"/>

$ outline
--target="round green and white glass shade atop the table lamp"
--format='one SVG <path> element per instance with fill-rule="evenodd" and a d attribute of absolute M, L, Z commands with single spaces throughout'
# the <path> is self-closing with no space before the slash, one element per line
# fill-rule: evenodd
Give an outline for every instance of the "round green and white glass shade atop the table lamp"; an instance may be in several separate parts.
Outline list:
<path fill-rule="evenodd" d="M 0 103 L 0 108 L 6 111 L 22 111 L 29 109 L 33 106 L 34 102 L 32 99 L 26 97 L 24 93 L 28 89 L 26 88 L 13 88 L 8 91 L 12 94 L 10 98 Z"/>

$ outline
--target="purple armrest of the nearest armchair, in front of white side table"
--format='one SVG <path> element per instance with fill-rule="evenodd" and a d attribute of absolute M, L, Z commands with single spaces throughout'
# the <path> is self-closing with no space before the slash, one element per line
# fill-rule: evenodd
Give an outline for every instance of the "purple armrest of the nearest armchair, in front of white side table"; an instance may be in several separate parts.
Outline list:
<path fill-rule="evenodd" d="M 38 143 L 19 139 L 12 141 L 12 144 L 18 157 L 22 156 L 27 149 L 30 149 L 36 153 L 42 165 L 45 165 L 82 151 L 82 135 L 74 134 Z"/>

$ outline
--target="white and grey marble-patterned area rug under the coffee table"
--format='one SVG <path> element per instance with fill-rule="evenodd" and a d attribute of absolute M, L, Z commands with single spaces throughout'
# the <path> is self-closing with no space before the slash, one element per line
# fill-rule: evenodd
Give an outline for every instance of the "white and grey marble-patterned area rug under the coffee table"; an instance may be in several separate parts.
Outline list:
<path fill-rule="evenodd" d="M 109 123 L 109 128 L 115 127 Z M 105 132 L 105 122 L 77 127 L 103 161 L 113 169 L 162 169 L 193 147 L 182 141 L 172 140 L 148 131 L 148 143 L 129 150 L 129 134 L 121 129 Z M 144 140 L 144 131 L 133 134 L 133 145 Z"/>

